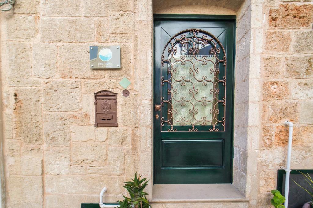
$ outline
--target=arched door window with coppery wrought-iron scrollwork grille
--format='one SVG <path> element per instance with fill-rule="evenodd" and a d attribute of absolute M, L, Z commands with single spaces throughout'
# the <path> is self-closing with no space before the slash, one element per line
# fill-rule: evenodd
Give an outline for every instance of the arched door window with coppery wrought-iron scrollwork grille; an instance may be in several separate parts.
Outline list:
<path fill-rule="evenodd" d="M 161 88 L 161 126 L 166 131 L 225 130 L 226 53 L 212 34 L 188 29 L 167 42 Z"/>

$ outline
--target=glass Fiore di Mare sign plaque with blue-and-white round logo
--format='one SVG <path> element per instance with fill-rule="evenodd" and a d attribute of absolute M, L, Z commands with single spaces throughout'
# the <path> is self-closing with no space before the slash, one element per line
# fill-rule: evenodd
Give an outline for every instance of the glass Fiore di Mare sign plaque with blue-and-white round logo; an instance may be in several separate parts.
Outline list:
<path fill-rule="evenodd" d="M 90 68 L 121 68 L 121 47 L 89 46 Z"/>

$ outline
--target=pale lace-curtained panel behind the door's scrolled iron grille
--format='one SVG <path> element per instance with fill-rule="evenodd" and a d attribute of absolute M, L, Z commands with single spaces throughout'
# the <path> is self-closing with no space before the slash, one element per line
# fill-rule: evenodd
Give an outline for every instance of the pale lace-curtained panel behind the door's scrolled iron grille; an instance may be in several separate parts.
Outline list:
<path fill-rule="evenodd" d="M 214 56 L 172 57 L 173 125 L 212 125 L 215 62 Z"/>

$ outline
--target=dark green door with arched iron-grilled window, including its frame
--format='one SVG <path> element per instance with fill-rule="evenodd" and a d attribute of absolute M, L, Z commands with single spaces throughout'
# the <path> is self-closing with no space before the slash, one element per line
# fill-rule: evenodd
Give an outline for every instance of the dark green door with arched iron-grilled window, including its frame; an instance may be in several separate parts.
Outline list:
<path fill-rule="evenodd" d="M 155 184 L 232 182 L 234 25 L 155 16 Z"/>

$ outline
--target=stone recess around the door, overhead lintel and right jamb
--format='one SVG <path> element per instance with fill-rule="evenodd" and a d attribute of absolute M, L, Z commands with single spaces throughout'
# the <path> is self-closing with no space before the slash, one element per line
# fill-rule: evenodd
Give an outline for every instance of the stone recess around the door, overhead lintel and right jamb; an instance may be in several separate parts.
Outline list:
<path fill-rule="evenodd" d="M 236 15 L 233 186 L 256 203 L 262 11 L 250 0 L 152 0 L 154 14 Z M 254 19 L 251 22 L 251 19 Z M 261 34 L 261 32 L 259 32 Z M 255 42 L 255 43 L 254 43 Z"/>

